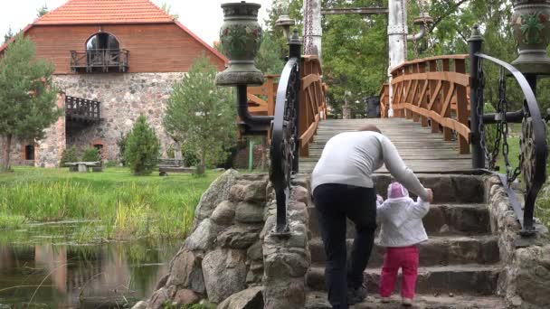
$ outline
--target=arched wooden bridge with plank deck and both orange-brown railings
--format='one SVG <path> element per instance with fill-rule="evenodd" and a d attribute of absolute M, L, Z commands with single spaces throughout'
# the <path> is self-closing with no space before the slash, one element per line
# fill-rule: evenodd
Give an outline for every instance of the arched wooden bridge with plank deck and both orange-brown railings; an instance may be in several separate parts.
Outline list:
<path fill-rule="evenodd" d="M 415 173 L 469 173 L 468 55 L 407 61 L 393 71 L 394 116 L 388 118 L 388 85 L 381 89 L 382 118 L 326 119 L 322 70 L 315 56 L 302 59 L 299 103 L 299 171 L 310 173 L 327 140 L 367 123 L 378 126 L 394 142 Z M 250 88 L 249 108 L 256 115 L 273 115 L 278 76 L 267 76 Z M 265 99 L 264 99 L 265 98 Z M 387 173 L 383 167 L 378 173 Z"/>

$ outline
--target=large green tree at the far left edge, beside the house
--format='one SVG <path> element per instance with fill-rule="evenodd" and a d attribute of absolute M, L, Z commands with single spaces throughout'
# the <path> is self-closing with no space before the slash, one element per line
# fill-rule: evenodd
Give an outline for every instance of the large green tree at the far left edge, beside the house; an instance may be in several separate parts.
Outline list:
<path fill-rule="evenodd" d="M 3 170 L 10 168 L 12 139 L 36 141 L 62 115 L 53 65 L 34 59 L 31 39 L 18 35 L 0 60 L 0 136 L 5 137 Z"/>

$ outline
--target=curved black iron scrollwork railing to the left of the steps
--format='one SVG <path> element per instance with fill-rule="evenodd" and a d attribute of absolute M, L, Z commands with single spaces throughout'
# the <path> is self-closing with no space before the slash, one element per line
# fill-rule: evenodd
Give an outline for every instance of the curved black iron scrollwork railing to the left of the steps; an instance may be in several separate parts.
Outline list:
<path fill-rule="evenodd" d="M 275 116 L 271 124 L 270 181 L 277 200 L 276 235 L 289 234 L 287 206 L 293 165 L 298 156 L 299 60 L 291 58 L 280 77 Z"/>

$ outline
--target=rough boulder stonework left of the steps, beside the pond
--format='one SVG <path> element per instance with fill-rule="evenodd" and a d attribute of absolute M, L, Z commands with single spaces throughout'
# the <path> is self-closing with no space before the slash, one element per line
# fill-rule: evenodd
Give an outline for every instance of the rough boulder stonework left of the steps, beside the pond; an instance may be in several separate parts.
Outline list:
<path fill-rule="evenodd" d="M 288 238 L 271 233 L 273 190 L 266 174 L 223 173 L 204 192 L 194 229 L 147 301 L 134 308 L 196 304 L 219 309 L 302 309 L 308 250 L 308 178 L 294 182 Z"/>

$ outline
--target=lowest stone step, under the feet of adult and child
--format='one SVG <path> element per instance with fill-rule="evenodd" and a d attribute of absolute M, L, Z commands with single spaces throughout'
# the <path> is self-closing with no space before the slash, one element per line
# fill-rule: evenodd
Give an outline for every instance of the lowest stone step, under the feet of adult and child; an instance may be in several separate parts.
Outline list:
<path fill-rule="evenodd" d="M 310 291 L 306 295 L 306 309 L 331 309 L 327 294 L 319 291 Z M 382 304 L 380 296 L 372 294 L 365 301 L 355 304 L 351 309 L 402 309 L 401 297 L 393 295 L 390 303 Z M 504 299 L 497 296 L 476 295 L 415 295 L 415 309 L 502 309 L 506 308 Z"/>

